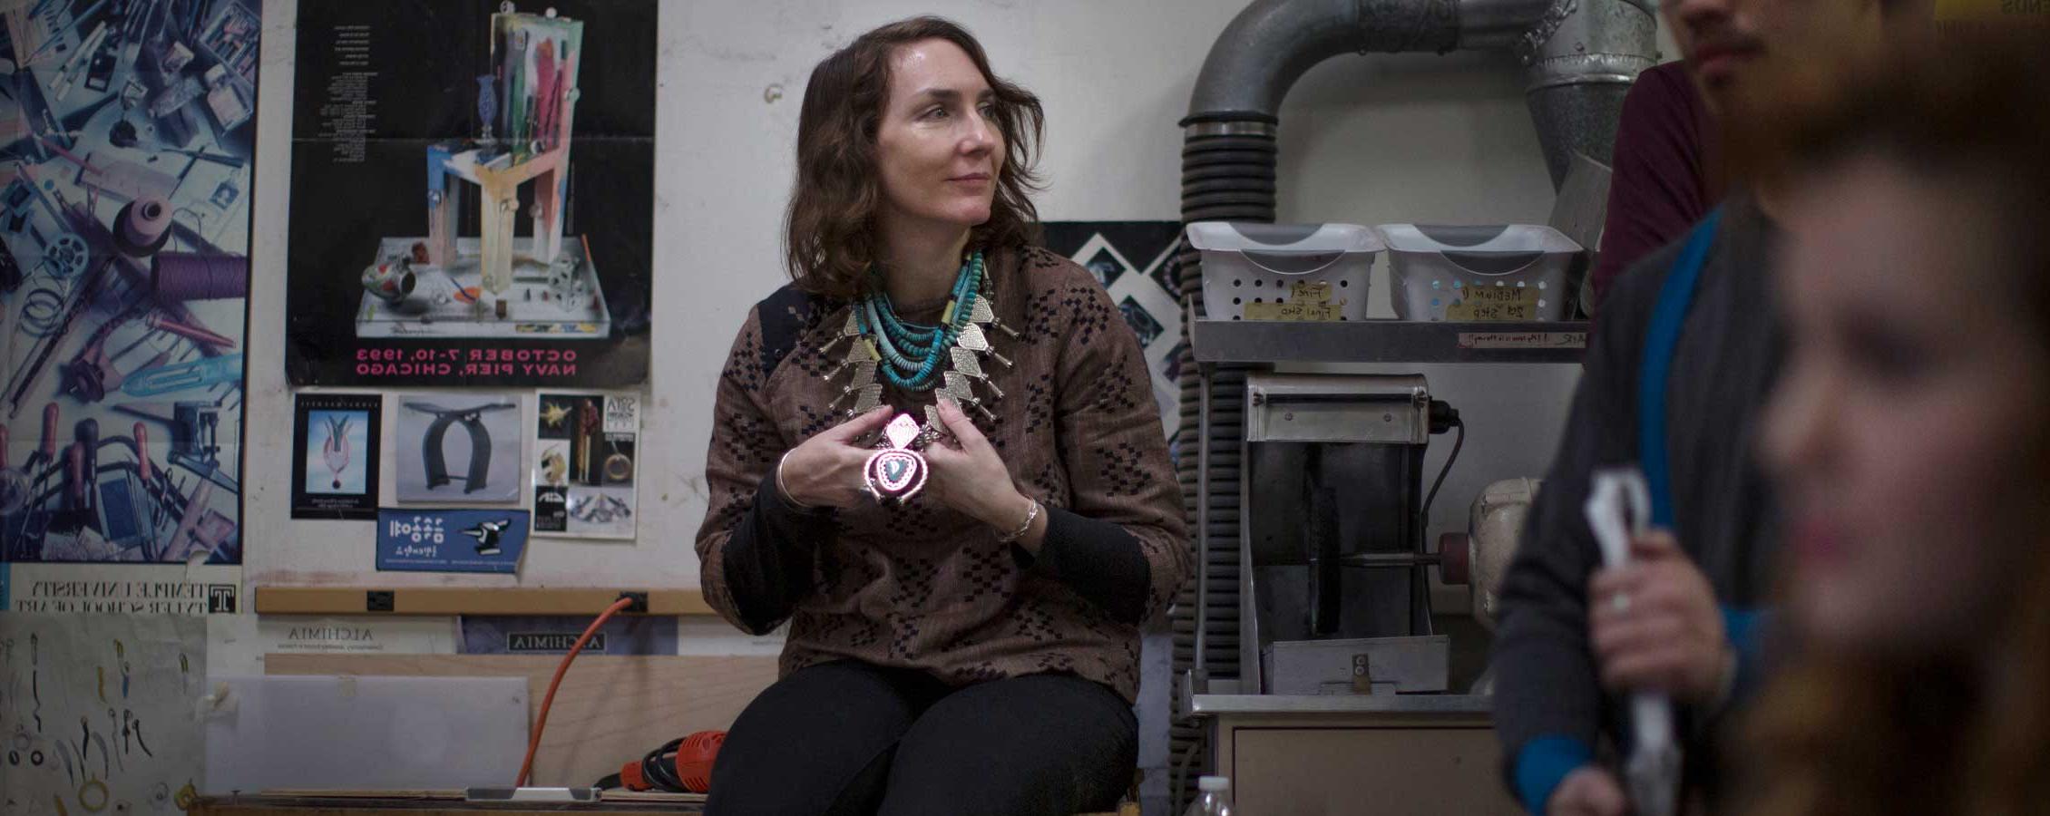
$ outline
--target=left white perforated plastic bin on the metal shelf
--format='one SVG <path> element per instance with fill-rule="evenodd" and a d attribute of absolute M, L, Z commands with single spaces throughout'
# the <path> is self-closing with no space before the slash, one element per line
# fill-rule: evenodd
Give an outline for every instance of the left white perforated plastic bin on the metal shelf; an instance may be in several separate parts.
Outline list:
<path fill-rule="evenodd" d="M 1367 320 L 1382 240 L 1357 223 L 1189 226 L 1212 320 Z"/>

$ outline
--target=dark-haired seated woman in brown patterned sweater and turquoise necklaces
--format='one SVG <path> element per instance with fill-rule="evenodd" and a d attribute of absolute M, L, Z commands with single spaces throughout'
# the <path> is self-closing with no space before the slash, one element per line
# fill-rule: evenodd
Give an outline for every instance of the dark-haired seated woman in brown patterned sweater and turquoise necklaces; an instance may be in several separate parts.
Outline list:
<path fill-rule="evenodd" d="M 1138 338 L 1031 246 L 1039 100 L 939 18 L 812 72 L 795 283 L 717 383 L 705 601 L 783 677 L 713 816 L 1060 814 L 1132 783 L 1140 623 L 1189 574 Z"/>

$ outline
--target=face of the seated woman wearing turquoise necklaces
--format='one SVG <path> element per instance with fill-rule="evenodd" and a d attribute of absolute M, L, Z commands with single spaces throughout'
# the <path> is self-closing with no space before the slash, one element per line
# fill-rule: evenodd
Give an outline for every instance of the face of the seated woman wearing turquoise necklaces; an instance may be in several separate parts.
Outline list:
<path fill-rule="evenodd" d="M 896 49 L 875 127 L 886 219 L 963 230 L 990 219 L 1004 160 L 994 105 L 959 45 L 927 39 Z"/>

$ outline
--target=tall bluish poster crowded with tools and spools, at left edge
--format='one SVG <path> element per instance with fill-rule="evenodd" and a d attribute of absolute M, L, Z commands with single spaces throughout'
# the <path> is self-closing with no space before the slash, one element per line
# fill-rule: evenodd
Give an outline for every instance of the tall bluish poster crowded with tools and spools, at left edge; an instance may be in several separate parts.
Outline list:
<path fill-rule="evenodd" d="M 260 4 L 4 6 L 0 560 L 240 564 Z"/>

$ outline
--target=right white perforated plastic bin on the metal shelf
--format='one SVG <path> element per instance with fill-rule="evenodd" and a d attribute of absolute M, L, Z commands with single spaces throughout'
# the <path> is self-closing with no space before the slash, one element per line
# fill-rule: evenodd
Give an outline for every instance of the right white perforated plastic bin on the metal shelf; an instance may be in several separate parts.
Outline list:
<path fill-rule="evenodd" d="M 1400 320 L 1566 320 L 1581 244 L 1540 223 L 1382 223 Z"/>

